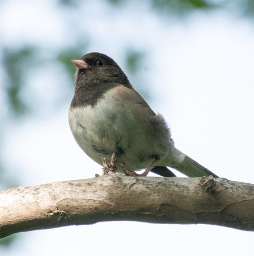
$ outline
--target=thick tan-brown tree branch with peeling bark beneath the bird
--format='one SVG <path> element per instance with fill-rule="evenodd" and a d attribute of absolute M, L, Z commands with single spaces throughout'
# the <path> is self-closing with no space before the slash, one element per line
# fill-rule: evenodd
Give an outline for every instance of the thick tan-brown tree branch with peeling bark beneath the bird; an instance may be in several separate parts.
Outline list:
<path fill-rule="evenodd" d="M 0 193 L 0 238 L 28 230 L 119 220 L 253 231 L 254 185 L 211 176 L 114 174 Z"/>

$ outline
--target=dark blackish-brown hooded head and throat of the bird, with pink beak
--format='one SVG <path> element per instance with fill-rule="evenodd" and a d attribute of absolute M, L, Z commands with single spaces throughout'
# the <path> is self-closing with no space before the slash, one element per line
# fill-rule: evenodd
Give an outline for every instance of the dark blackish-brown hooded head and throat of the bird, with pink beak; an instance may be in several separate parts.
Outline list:
<path fill-rule="evenodd" d="M 120 84 L 132 87 L 117 63 L 103 53 L 91 52 L 72 61 L 78 71 L 71 106 L 95 105 L 104 92 Z"/>

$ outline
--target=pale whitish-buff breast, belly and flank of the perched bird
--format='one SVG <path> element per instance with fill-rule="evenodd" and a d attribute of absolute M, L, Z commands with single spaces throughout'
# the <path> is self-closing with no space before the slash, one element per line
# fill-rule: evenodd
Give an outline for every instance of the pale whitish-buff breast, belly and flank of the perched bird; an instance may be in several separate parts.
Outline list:
<path fill-rule="evenodd" d="M 69 123 L 75 140 L 90 158 L 101 164 L 102 157 L 110 159 L 115 152 L 120 163 L 137 170 L 165 151 L 170 133 L 160 115 L 150 114 L 130 96 L 122 98 L 108 90 L 93 107 L 70 108 Z M 165 137 L 159 141 L 158 134 Z"/>

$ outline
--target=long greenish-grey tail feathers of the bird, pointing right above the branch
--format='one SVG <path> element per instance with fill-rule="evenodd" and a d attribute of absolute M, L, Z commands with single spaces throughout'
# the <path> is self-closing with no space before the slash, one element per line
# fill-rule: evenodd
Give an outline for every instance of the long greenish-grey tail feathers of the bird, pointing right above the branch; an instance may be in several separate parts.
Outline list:
<path fill-rule="evenodd" d="M 197 163 L 195 160 L 191 159 L 187 155 L 185 155 L 183 162 L 181 162 L 179 166 L 171 167 L 189 177 L 202 177 L 210 175 L 214 177 L 219 177 L 204 166 L 201 166 L 201 164 Z"/>

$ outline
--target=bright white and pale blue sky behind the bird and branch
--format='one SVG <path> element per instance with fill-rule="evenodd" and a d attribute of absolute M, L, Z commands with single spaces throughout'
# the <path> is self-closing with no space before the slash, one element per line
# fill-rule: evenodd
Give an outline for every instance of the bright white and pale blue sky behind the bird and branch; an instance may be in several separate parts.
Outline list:
<path fill-rule="evenodd" d="M 120 11 L 88 1 L 60 13 L 53 1 L 12 0 L 2 3 L 0 33 L 2 46 L 36 44 L 49 60 L 58 47 L 89 38 L 83 54 L 111 56 L 129 79 L 122 49 L 145 52 L 139 79 L 130 82 L 149 94 L 151 108 L 170 124 L 175 146 L 218 176 L 254 183 L 254 30 L 248 20 L 218 11 L 179 21 L 145 4 L 134 8 L 133 2 Z M 49 61 L 35 71 L 23 93 L 34 101 L 36 115 L 18 125 L 2 119 L 8 175 L 22 186 L 94 177 L 101 167 L 78 147 L 69 128 L 73 88 L 66 85 L 64 69 Z M 55 108 L 60 90 L 66 100 Z M 253 232 L 212 225 L 101 222 L 22 233 L 10 248 L 0 247 L 0 255 L 252 255 L 253 238 Z"/>

